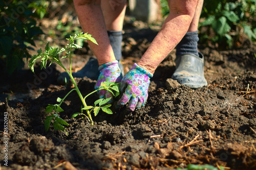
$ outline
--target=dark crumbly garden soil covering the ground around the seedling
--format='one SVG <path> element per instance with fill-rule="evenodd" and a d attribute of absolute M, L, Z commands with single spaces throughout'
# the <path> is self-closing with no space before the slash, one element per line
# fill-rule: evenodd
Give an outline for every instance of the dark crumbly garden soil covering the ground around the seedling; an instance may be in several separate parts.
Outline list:
<path fill-rule="evenodd" d="M 134 24 L 127 22 L 124 27 L 125 71 L 157 33 Z M 8 112 L 9 142 L 7 167 L 1 126 L 2 169 L 172 169 L 188 164 L 256 169 L 256 46 L 229 51 L 205 46 L 199 44 L 207 87 L 191 89 L 170 79 L 174 51 L 157 68 L 140 110 L 99 113 L 91 126 L 81 116 L 71 118 L 81 107 L 78 95 L 71 93 L 60 114 L 69 123 L 67 133 L 44 128 L 46 106 L 56 104 L 57 97 L 71 89 L 57 84 L 62 71 L 58 66 L 36 67 L 35 75 L 24 69 L 5 79 L 0 111 L 1 125 Z M 91 52 L 86 49 L 75 52 L 74 68 L 89 59 Z M 76 80 L 83 95 L 94 90 L 96 81 Z M 95 100 L 97 95 L 87 102 Z"/>

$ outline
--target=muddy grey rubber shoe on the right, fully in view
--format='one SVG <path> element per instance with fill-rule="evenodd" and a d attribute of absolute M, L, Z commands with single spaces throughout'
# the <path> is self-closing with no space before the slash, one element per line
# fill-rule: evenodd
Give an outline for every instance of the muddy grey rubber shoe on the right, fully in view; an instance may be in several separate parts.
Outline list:
<path fill-rule="evenodd" d="M 204 57 L 199 53 L 199 57 L 194 54 L 184 54 L 176 58 L 176 70 L 172 79 L 180 84 L 191 88 L 207 86 L 204 78 Z"/>

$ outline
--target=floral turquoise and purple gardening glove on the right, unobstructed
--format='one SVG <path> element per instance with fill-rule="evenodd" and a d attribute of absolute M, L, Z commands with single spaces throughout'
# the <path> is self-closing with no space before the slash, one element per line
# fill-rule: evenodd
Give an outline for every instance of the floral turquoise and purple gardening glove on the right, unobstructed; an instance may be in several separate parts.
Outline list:
<path fill-rule="evenodd" d="M 152 77 L 153 74 L 151 72 L 135 63 L 121 81 L 120 91 L 123 94 L 117 105 L 120 107 L 129 102 L 128 109 L 131 111 L 144 106 L 147 100 L 150 78 Z"/>

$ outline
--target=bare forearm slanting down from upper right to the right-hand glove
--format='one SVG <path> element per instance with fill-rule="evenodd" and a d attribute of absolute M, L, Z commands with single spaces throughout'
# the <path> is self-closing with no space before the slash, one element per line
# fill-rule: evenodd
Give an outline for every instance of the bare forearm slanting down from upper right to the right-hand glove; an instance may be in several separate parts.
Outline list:
<path fill-rule="evenodd" d="M 190 12 L 181 13 L 179 10 L 170 10 L 161 30 L 142 56 L 138 65 L 154 74 L 157 66 L 173 51 L 187 32 L 193 19 L 197 2 L 191 4 Z"/>

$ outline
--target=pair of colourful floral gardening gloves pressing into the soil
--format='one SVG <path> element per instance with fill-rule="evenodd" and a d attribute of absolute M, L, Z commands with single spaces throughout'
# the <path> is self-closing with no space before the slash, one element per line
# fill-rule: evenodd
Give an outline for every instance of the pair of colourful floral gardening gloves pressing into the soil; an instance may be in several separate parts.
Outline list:
<path fill-rule="evenodd" d="M 100 75 L 95 85 L 96 90 L 100 88 L 102 82 L 121 82 L 120 94 L 122 96 L 117 103 L 119 107 L 129 103 L 128 109 L 134 111 L 136 108 L 139 109 L 145 105 L 150 78 L 153 77 L 151 72 L 135 63 L 133 68 L 122 77 L 117 60 L 99 66 L 99 71 Z M 99 90 L 98 93 L 100 99 L 112 98 L 109 103 L 114 101 L 114 96 L 110 91 Z"/>

